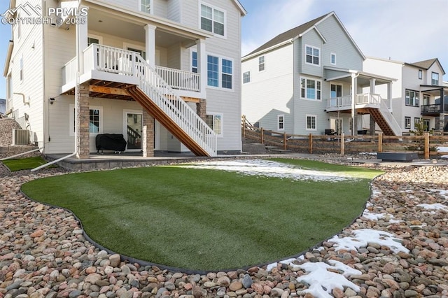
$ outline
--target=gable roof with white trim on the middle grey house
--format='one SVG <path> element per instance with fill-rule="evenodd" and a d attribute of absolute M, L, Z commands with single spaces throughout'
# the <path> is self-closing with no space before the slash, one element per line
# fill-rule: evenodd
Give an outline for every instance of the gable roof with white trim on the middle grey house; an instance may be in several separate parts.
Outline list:
<path fill-rule="evenodd" d="M 248 57 L 248 56 L 252 56 L 252 55 L 254 55 L 254 54 L 258 53 L 258 52 L 262 52 L 262 51 L 270 49 L 270 48 L 275 48 L 276 46 L 282 45 L 286 41 L 292 41 L 293 39 L 301 37 L 303 34 L 306 34 L 311 29 L 316 29 L 317 33 L 321 36 L 323 41 L 325 41 L 325 37 L 321 35 L 321 33 L 316 28 L 316 25 L 318 25 L 319 23 L 323 22 L 325 19 L 327 19 L 328 17 L 330 17 L 332 15 L 335 16 L 337 22 L 339 22 L 339 24 L 341 25 L 341 27 L 344 30 L 346 36 L 349 38 L 351 43 L 353 43 L 353 45 L 355 46 L 356 50 L 358 50 L 358 52 L 363 57 L 363 59 L 365 59 L 365 56 L 364 56 L 363 52 L 361 52 L 360 48 L 358 48 L 358 45 L 356 45 L 355 41 L 353 41 L 353 38 L 351 38 L 349 32 L 345 29 L 344 24 L 342 24 L 341 20 L 339 20 L 339 17 L 337 17 L 337 15 L 336 15 L 336 13 L 334 11 L 332 11 L 331 13 L 327 13 L 326 15 L 321 15 L 320 17 L 317 17 L 314 20 L 311 20 L 309 22 L 301 24 L 300 26 L 297 26 L 297 27 L 295 27 L 293 29 L 290 29 L 288 31 L 285 31 L 285 32 L 275 36 L 270 41 L 267 41 L 267 43 L 261 45 L 259 48 L 256 48 L 252 52 L 250 52 L 247 55 L 245 55 L 243 58 Z"/>

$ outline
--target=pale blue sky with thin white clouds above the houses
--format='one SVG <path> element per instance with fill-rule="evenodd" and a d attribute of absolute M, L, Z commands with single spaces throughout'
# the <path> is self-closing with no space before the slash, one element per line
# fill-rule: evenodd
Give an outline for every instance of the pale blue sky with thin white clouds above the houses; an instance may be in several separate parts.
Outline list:
<path fill-rule="evenodd" d="M 207 0 L 204 0 L 207 1 Z M 448 72 L 448 0 L 240 0 L 248 14 L 242 20 L 242 53 L 274 36 L 335 11 L 366 56 L 402 62 L 438 58 Z M 0 0 L 0 14 L 8 8 Z M 0 74 L 10 26 L 0 24 Z M 445 81 L 448 76 L 443 77 Z M 0 78 L 0 98 L 6 97 Z"/>

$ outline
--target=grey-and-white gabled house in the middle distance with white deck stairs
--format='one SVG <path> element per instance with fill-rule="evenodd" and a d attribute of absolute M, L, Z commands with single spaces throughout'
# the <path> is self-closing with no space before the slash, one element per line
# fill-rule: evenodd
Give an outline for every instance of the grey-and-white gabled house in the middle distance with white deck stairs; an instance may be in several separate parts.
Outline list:
<path fill-rule="evenodd" d="M 362 122 L 369 113 L 385 134 L 401 134 L 390 93 L 375 92 L 391 90 L 394 79 L 364 72 L 364 59 L 334 12 L 283 32 L 242 58 L 242 113 L 264 129 L 298 135 L 374 132 L 374 123 Z"/>

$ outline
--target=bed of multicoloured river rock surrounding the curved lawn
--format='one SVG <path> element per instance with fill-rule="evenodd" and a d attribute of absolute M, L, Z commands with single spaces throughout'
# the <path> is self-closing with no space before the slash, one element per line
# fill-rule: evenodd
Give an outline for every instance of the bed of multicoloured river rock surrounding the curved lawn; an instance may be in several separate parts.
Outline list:
<path fill-rule="evenodd" d="M 324 241 L 290 264 L 203 275 L 125 262 L 87 241 L 68 211 L 20 193 L 22 183 L 64 170 L 0 168 L 0 298 L 448 297 L 447 166 L 381 165 L 386 173 L 372 181 L 365 213 L 337 235 L 388 232 L 407 253 L 374 242 L 336 250 L 335 243 Z M 329 293 L 314 296 L 309 291 L 314 285 L 300 278 L 307 271 L 295 264 L 331 262 L 357 271 L 346 278 L 356 287 L 321 289 Z"/>

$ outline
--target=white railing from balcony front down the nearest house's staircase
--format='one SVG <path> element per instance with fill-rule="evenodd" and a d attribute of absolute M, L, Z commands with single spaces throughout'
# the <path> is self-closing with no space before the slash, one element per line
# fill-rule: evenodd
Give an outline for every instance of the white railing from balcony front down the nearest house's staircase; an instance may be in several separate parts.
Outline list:
<path fill-rule="evenodd" d="M 139 78 L 140 89 L 209 156 L 216 156 L 217 141 L 213 129 L 174 92 L 141 55 L 97 44 L 90 45 L 85 52 L 87 50 L 93 51 L 92 55 L 88 56 L 94 60 L 95 69 Z"/>

